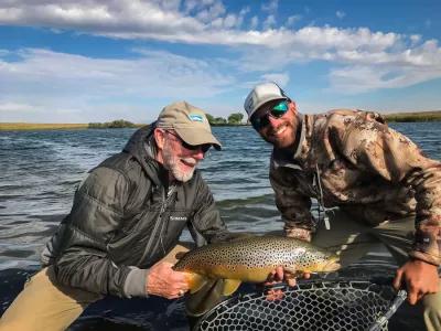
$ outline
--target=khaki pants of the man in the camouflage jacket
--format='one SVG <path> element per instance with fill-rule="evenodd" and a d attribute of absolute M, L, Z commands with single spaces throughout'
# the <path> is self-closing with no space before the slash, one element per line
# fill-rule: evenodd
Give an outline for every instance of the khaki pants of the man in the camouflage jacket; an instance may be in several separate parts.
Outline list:
<path fill-rule="evenodd" d="M 398 265 L 408 260 L 407 253 L 413 242 L 415 217 L 386 221 L 378 226 L 369 226 L 336 212 L 331 220 L 331 229 L 321 224 L 312 243 L 319 247 L 331 248 L 340 255 L 343 266 L 358 260 L 368 252 L 384 244 Z M 423 319 L 429 331 L 441 330 L 441 291 L 421 299 Z"/>

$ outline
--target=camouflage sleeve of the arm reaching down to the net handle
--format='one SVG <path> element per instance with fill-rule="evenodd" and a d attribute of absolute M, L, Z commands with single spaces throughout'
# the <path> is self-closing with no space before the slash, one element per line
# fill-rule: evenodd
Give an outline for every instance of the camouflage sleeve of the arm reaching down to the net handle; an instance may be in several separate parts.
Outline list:
<path fill-rule="evenodd" d="M 345 156 L 363 171 L 415 191 L 416 239 L 410 256 L 441 263 L 441 163 L 406 136 L 377 121 L 356 120 L 341 135 Z"/>

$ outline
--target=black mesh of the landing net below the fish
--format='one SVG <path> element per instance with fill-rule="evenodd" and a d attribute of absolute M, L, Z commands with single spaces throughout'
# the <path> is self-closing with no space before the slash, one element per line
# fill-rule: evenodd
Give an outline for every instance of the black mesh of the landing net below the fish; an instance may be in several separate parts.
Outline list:
<path fill-rule="evenodd" d="M 198 330 L 387 330 L 406 292 L 370 281 L 304 281 L 284 296 L 239 295 L 212 309 Z"/>

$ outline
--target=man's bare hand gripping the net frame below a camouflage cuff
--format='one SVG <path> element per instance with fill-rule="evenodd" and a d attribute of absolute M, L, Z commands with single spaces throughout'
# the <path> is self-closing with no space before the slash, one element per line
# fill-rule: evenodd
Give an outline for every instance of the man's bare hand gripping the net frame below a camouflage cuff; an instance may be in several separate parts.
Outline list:
<path fill-rule="evenodd" d="M 417 303 L 423 296 L 439 291 L 438 268 L 423 260 L 409 260 L 397 270 L 394 288 L 399 290 L 402 285 L 407 288 L 407 300 Z"/>

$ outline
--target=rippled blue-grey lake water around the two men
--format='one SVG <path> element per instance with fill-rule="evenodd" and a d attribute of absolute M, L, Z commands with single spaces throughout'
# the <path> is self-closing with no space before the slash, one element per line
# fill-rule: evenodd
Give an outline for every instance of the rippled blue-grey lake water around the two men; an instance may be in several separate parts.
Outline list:
<path fill-rule="evenodd" d="M 429 157 L 441 159 L 441 122 L 390 126 L 410 137 Z M 120 151 L 132 132 L 133 129 L 0 132 L 2 310 L 19 290 L 23 277 L 37 268 L 39 254 L 68 213 L 76 185 L 89 169 Z M 216 127 L 214 132 L 224 148 L 209 151 L 200 169 L 228 227 L 258 233 L 281 229 L 268 181 L 270 146 L 250 127 Z M 184 238 L 189 235 L 184 234 Z M 110 305 L 118 307 L 116 302 Z M 142 312 L 142 318 L 141 313 L 130 313 L 130 305 L 137 311 L 139 300 L 125 302 L 125 313 L 118 319 L 114 318 L 118 316 L 114 308 L 105 320 L 96 322 L 86 317 L 71 329 L 111 330 L 117 325 L 115 330 L 122 330 L 121 325 L 130 324 L 130 330 L 136 330 L 133 325 L 139 330 L 186 330 L 180 300 L 149 299 L 150 308 Z M 104 314 L 99 309 L 96 313 Z M 170 316 L 174 322 L 170 322 Z"/>

